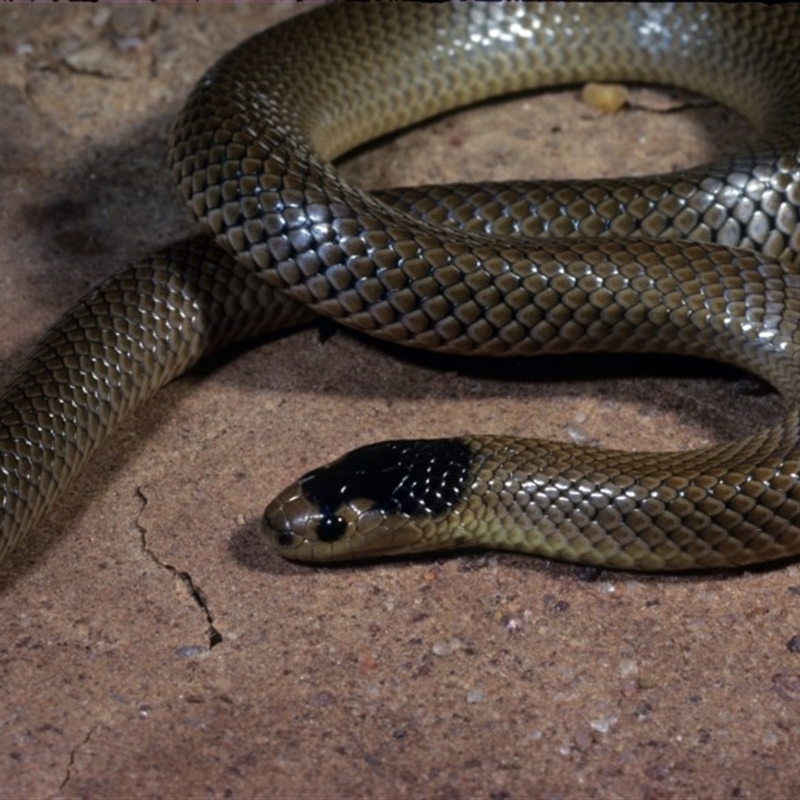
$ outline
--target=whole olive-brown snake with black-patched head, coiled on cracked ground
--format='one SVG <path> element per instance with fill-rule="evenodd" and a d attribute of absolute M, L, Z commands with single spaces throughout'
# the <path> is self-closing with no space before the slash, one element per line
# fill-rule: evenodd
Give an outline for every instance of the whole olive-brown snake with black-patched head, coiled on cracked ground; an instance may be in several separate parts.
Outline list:
<path fill-rule="evenodd" d="M 586 81 L 698 92 L 758 142 L 590 181 L 368 192 L 334 165 L 433 115 Z M 333 3 L 212 66 L 168 162 L 202 232 L 93 289 L 0 396 L 0 558 L 165 383 L 320 317 L 476 357 L 701 356 L 785 409 L 684 452 L 466 432 L 367 445 L 266 507 L 259 535 L 289 559 L 493 548 L 671 571 L 800 553 L 798 6 Z"/>

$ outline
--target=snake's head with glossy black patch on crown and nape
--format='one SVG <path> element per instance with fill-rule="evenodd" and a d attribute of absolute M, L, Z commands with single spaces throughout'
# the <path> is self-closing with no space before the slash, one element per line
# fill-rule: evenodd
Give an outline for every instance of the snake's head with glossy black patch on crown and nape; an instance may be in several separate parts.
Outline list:
<path fill-rule="evenodd" d="M 264 511 L 261 532 L 297 561 L 441 549 L 435 534 L 464 493 L 471 462 L 461 439 L 367 445 L 284 489 Z"/>

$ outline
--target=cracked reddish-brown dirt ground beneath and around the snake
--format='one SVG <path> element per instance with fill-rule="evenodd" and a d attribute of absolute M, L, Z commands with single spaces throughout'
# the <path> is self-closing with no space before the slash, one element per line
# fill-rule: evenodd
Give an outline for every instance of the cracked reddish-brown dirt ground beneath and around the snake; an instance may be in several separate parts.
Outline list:
<path fill-rule="evenodd" d="M 170 120 L 225 50 L 307 8 L 0 6 L 4 375 L 103 275 L 194 230 L 164 166 Z M 708 103 L 641 90 L 604 115 L 570 89 L 449 115 L 343 169 L 368 187 L 644 173 L 743 130 Z M 196 370 L 0 568 L 0 796 L 800 795 L 797 566 L 320 569 L 257 536 L 284 485 L 375 439 L 694 447 L 778 412 L 748 386 L 659 359 L 470 367 L 316 330 Z"/>

